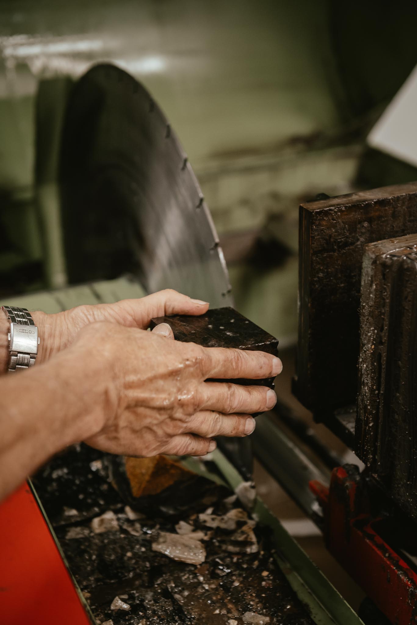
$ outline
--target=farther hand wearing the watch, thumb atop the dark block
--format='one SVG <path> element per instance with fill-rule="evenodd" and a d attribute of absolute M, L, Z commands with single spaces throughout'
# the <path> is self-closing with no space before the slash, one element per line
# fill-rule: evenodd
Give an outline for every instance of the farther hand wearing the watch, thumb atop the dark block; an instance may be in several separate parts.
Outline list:
<path fill-rule="evenodd" d="M 56 314 L 33 312 L 39 327 L 41 343 L 37 363 L 71 345 L 78 332 L 94 321 L 112 321 L 125 327 L 146 329 L 153 317 L 169 314 L 203 314 L 209 304 L 191 299 L 172 289 L 159 291 L 139 299 L 124 299 L 115 304 L 77 306 Z"/>

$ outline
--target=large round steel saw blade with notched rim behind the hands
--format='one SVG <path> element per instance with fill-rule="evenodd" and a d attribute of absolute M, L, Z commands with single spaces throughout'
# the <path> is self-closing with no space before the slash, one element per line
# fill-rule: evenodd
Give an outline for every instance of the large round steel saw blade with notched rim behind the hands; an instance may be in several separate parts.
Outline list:
<path fill-rule="evenodd" d="M 131 272 L 229 306 L 226 263 L 191 165 L 144 87 L 101 64 L 74 85 L 63 126 L 60 192 L 69 282 Z"/>

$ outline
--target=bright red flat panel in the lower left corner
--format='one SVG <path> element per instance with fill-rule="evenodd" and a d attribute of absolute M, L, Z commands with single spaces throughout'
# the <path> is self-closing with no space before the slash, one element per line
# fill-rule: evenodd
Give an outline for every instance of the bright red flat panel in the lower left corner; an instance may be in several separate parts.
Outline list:
<path fill-rule="evenodd" d="M 0 614 L 6 625 L 91 625 L 29 484 L 0 505 Z"/>

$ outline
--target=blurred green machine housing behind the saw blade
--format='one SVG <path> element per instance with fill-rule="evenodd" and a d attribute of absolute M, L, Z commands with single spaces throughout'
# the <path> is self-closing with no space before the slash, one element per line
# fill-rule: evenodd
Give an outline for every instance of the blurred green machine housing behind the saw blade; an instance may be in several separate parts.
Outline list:
<path fill-rule="evenodd" d="M 294 342 L 299 203 L 416 178 L 365 147 L 416 63 L 416 14 L 405 1 L 1 2 L 2 294 L 66 284 L 63 111 L 71 81 L 110 61 L 181 138 L 236 306 Z"/>

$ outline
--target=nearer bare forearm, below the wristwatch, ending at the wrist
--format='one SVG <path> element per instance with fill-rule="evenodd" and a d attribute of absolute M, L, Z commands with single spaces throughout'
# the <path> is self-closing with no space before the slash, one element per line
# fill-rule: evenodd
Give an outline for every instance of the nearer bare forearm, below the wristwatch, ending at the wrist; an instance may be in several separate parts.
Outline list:
<path fill-rule="evenodd" d="M 74 347 L 0 378 L 0 501 L 64 447 L 102 426 L 101 364 Z"/>

